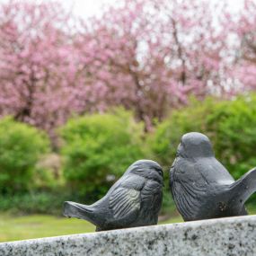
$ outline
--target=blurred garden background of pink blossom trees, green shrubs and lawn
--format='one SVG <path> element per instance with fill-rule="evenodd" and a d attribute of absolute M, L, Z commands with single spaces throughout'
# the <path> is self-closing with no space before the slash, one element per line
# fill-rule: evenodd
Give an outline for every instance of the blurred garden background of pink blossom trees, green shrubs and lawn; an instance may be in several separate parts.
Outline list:
<path fill-rule="evenodd" d="M 168 172 L 205 133 L 235 179 L 256 165 L 256 1 L 0 0 L 0 242 L 93 232 L 61 217 L 128 165 Z M 249 200 L 256 212 L 256 197 Z"/>

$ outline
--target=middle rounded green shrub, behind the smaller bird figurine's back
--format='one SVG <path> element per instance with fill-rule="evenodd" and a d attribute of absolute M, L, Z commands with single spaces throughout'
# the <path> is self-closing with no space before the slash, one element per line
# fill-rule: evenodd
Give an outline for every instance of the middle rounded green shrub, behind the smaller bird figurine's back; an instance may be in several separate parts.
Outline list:
<path fill-rule="evenodd" d="M 60 134 L 67 183 L 97 198 L 128 165 L 146 155 L 143 125 L 122 109 L 70 119 Z"/>

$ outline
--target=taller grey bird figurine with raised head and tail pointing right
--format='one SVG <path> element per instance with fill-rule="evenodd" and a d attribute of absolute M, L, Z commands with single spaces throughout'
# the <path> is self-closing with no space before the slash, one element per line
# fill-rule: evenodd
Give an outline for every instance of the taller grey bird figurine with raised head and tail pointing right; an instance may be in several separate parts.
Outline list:
<path fill-rule="evenodd" d="M 234 181 L 219 163 L 207 136 L 181 138 L 170 170 L 170 187 L 185 221 L 247 215 L 244 203 L 256 190 L 256 168 Z"/>

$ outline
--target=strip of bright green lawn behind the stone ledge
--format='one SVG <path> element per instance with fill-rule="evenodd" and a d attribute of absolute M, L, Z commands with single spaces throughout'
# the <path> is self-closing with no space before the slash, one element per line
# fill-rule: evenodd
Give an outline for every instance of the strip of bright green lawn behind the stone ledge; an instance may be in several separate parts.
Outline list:
<path fill-rule="evenodd" d="M 181 222 L 181 217 L 160 222 Z M 0 242 L 15 241 L 64 234 L 94 232 L 94 225 L 75 218 L 47 215 L 9 216 L 0 214 Z"/>

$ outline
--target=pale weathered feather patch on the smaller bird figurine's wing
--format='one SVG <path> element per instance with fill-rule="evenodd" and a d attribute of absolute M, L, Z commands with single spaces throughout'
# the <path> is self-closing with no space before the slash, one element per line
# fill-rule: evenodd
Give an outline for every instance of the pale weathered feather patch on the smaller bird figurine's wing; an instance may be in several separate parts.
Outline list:
<path fill-rule="evenodd" d="M 116 219 L 137 214 L 140 202 L 139 190 L 119 187 L 110 195 L 110 208 Z"/>

